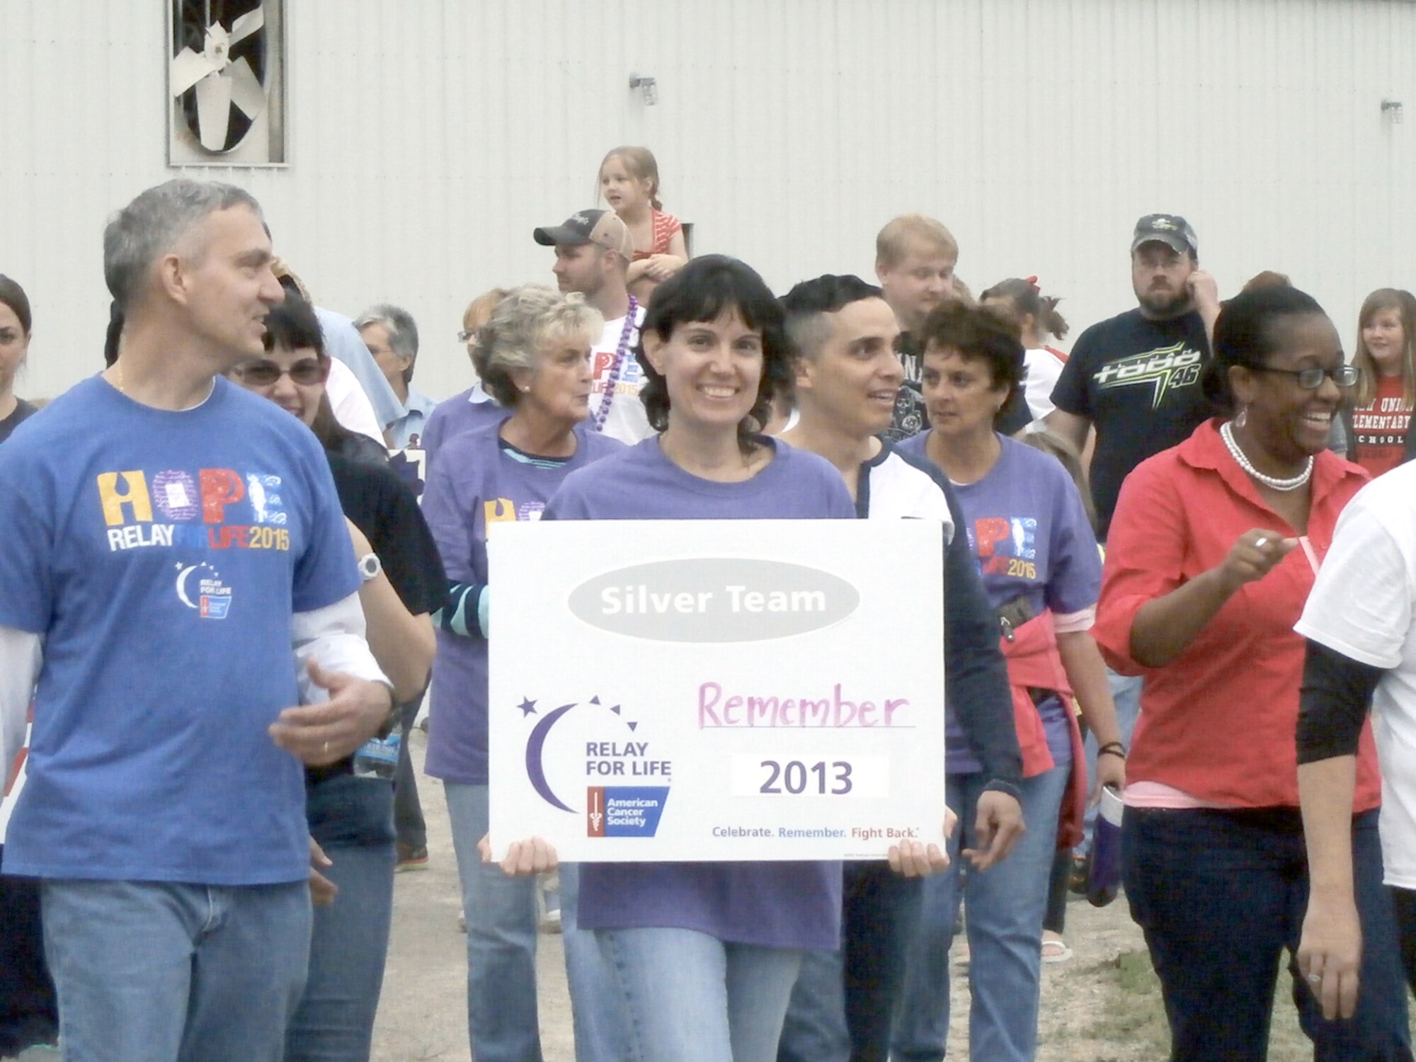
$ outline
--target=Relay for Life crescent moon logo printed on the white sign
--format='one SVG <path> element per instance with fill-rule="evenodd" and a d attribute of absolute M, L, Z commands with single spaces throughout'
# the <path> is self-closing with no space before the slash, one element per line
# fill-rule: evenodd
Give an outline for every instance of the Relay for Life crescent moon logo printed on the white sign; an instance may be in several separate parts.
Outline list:
<path fill-rule="evenodd" d="M 535 718 L 527 735 L 527 779 L 537 796 L 576 814 L 581 809 L 556 790 L 578 792 L 589 780 L 595 784 L 583 790 L 586 835 L 653 837 L 658 831 L 673 765 L 639 733 L 637 719 L 624 718 L 622 705 L 592 697 L 542 712 L 524 697 L 517 708 L 524 722 Z M 646 782 L 658 784 L 636 784 Z"/>

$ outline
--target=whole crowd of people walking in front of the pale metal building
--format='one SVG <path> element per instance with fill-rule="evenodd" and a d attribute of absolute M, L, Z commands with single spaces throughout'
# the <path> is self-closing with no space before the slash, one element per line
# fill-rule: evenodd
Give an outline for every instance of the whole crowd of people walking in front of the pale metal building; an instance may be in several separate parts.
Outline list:
<path fill-rule="evenodd" d="M 779 297 L 690 253 L 649 150 L 596 190 L 530 234 L 554 287 L 470 300 L 442 402 L 413 319 L 317 306 L 234 185 L 113 215 L 106 365 L 42 409 L 0 275 L 0 1055 L 368 1059 L 426 694 L 479 1062 L 541 1059 L 554 871 L 581 1062 L 942 1059 L 952 960 L 970 1056 L 1031 1059 L 1103 787 L 1171 1058 L 1263 1059 L 1287 952 L 1317 1058 L 1412 1059 L 1416 297 L 1348 357 L 1148 214 L 1066 354 L 937 219 Z M 943 619 L 946 851 L 490 860 L 489 527 L 701 518 L 937 523 L 902 617 Z"/>

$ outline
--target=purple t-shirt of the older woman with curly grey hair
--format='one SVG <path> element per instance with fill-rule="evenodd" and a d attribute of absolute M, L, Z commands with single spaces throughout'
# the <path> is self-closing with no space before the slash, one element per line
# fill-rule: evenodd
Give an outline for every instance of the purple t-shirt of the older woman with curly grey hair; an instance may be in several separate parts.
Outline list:
<path fill-rule="evenodd" d="M 593 432 L 579 433 L 575 455 L 547 466 L 507 453 L 501 423 L 443 442 L 428 476 L 423 518 L 453 582 L 487 582 L 487 521 L 539 520 L 541 510 L 576 469 L 623 450 L 624 443 Z M 432 726 L 425 769 L 433 777 L 469 786 L 487 784 L 487 643 L 438 630 L 432 675 Z"/>

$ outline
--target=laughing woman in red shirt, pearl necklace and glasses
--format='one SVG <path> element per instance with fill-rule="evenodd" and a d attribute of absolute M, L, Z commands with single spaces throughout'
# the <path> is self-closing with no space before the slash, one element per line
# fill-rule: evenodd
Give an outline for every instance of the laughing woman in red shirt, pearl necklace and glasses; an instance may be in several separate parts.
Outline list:
<path fill-rule="evenodd" d="M 1366 476 L 1327 450 L 1355 371 L 1311 296 L 1240 293 L 1219 314 L 1214 351 L 1204 385 L 1219 416 L 1121 487 L 1096 632 L 1113 667 L 1146 677 L 1121 860 L 1165 997 L 1171 1058 L 1257 1062 L 1308 893 L 1294 746 L 1303 639 L 1293 624 Z M 1289 964 L 1320 1059 L 1410 1058 L 1379 801 L 1366 732 L 1351 804 L 1369 944 L 1354 1018 L 1324 1020 Z"/>

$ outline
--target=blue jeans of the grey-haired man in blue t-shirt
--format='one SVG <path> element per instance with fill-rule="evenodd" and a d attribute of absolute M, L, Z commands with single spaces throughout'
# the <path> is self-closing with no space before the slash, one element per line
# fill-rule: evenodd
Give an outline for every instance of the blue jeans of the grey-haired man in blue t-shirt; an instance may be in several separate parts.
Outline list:
<path fill-rule="evenodd" d="M 310 961 L 310 889 L 45 881 L 67 1062 L 279 1062 Z"/>

